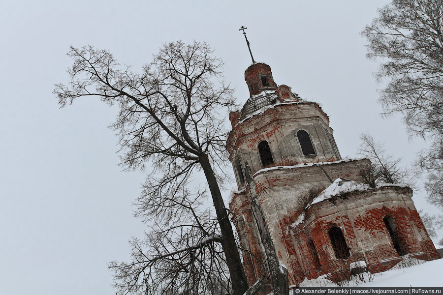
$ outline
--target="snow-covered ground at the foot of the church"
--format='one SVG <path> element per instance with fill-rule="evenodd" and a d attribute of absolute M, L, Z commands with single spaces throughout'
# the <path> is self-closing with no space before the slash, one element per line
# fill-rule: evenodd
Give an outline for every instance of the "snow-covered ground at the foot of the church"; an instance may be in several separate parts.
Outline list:
<path fill-rule="evenodd" d="M 437 246 L 437 245 L 436 245 Z M 442 246 L 437 246 L 442 247 Z M 404 267 L 402 264 L 411 265 Z M 370 280 L 369 280 L 370 279 Z M 347 286 L 353 287 L 443 287 L 443 259 L 422 261 L 407 259 L 397 266 L 374 275 L 365 274 L 364 281 L 352 279 Z M 305 279 L 300 287 L 337 287 L 324 276 L 314 280 Z"/>

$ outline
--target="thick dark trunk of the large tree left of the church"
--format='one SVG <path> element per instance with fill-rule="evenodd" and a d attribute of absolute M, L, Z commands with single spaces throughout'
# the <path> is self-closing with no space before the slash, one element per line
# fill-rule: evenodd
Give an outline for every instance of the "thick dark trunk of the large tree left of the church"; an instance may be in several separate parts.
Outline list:
<path fill-rule="evenodd" d="M 206 155 L 200 156 L 200 164 L 208 180 L 209 190 L 216 209 L 217 220 L 220 224 L 221 235 L 223 236 L 221 245 L 226 256 L 226 264 L 231 276 L 232 288 L 235 295 L 243 295 L 248 290 L 248 282 L 245 271 L 243 270 L 240 253 L 235 244 L 234 232 L 232 231 L 229 216 L 224 206 L 223 198 L 221 197 L 219 184 Z"/>

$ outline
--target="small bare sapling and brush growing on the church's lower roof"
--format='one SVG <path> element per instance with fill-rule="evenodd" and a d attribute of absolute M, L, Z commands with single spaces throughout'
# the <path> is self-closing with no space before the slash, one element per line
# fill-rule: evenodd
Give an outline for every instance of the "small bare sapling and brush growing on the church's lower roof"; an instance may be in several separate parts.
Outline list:
<path fill-rule="evenodd" d="M 411 188 L 415 186 L 411 170 L 401 167 L 401 159 L 387 154 L 383 143 L 376 142 L 369 134 L 361 134 L 360 140 L 359 154 L 371 160 L 371 166 L 360 171 L 360 176 L 366 183 L 372 187 L 377 182 L 404 183 Z"/>

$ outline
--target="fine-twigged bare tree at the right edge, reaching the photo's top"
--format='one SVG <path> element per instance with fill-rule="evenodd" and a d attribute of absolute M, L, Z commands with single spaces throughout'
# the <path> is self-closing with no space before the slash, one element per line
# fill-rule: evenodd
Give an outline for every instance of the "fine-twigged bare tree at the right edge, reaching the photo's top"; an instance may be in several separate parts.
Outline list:
<path fill-rule="evenodd" d="M 384 114 L 402 113 L 412 135 L 433 141 L 418 167 L 429 173 L 430 203 L 443 209 L 443 0 L 393 0 L 362 35 L 367 57 L 383 59 Z"/>

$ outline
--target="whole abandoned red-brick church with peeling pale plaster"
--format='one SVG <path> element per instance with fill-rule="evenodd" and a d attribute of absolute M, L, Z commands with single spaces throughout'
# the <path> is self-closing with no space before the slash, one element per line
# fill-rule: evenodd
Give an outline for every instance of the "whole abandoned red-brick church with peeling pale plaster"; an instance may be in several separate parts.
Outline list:
<path fill-rule="evenodd" d="M 288 86 L 277 86 L 269 65 L 253 63 L 245 80 L 251 97 L 241 112 L 229 114 L 227 149 L 239 189 L 229 208 L 250 285 L 268 270 L 251 213 L 245 163 L 289 285 L 339 273 L 344 261 L 363 262 L 371 272 L 380 272 L 405 255 L 440 258 L 411 200 L 411 188 L 364 184 L 360 172 L 370 160 L 343 160 L 328 116 Z M 317 194 L 300 207 L 309 189 Z"/>

